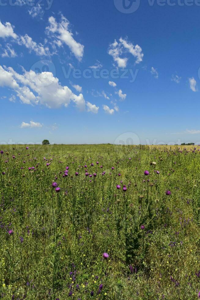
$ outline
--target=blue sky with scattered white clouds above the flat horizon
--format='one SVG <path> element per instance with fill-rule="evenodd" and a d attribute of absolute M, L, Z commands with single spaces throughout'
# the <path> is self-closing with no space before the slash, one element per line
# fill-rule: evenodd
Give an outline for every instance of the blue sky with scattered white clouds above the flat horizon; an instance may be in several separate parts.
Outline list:
<path fill-rule="evenodd" d="M 0 6 L 1 144 L 200 143 L 200 1 Z"/>

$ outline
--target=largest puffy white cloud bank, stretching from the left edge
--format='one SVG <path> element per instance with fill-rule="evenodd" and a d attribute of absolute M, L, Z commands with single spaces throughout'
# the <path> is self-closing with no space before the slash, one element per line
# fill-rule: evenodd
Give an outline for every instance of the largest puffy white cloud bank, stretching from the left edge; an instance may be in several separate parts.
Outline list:
<path fill-rule="evenodd" d="M 18 74 L 13 68 L 0 66 L 0 86 L 12 88 L 25 104 L 42 104 L 49 108 L 67 107 L 72 101 L 80 111 L 85 110 L 83 95 L 75 95 L 67 86 L 62 86 L 51 72 L 36 74 L 24 70 Z"/>

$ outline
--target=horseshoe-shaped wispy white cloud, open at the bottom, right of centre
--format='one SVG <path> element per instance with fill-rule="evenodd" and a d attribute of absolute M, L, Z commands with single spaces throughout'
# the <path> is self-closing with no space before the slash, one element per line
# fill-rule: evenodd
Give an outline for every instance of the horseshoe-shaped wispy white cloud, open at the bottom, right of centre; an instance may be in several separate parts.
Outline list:
<path fill-rule="evenodd" d="M 139 45 L 134 46 L 132 43 L 127 42 L 125 39 L 120 38 L 119 43 L 115 39 L 114 43 L 109 45 L 108 54 L 113 57 L 113 60 L 117 63 L 119 68 L 126 68 L 128 58 L 121 58 L 127 52 L 131 53 L 135 58 L 135 63 L 142 62 L 144 54 L 142 48 Z"/>

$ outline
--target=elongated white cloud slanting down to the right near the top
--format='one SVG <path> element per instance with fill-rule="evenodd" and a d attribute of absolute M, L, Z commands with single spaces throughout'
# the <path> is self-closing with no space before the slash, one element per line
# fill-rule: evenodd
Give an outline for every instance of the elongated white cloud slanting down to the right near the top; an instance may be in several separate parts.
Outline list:
<path fill-rule="evenodd" d="M 46 31 L 49 35 L 54 37 L 54 42 L 60 40 L 62 43 L 65 43 L 76 58 L 81 61 L 84 46 L 75 41 L 72 32 L 69 31 L 69 26 L 70 23 L 64 16 L 61 16 L 60 23 L 57 23 L 56 19 L 52 16 L 49 17 L 49 26 L 46 27 Z"/>

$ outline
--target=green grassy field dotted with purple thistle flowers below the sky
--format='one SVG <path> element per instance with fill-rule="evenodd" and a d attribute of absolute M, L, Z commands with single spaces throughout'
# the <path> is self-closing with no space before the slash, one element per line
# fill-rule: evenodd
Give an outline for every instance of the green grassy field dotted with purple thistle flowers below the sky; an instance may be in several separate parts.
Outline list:
<path fill-rule="evenodd" d="M 26 147 L 0 149 L 0 298 L 200 298 L 200 147 Z"/>

